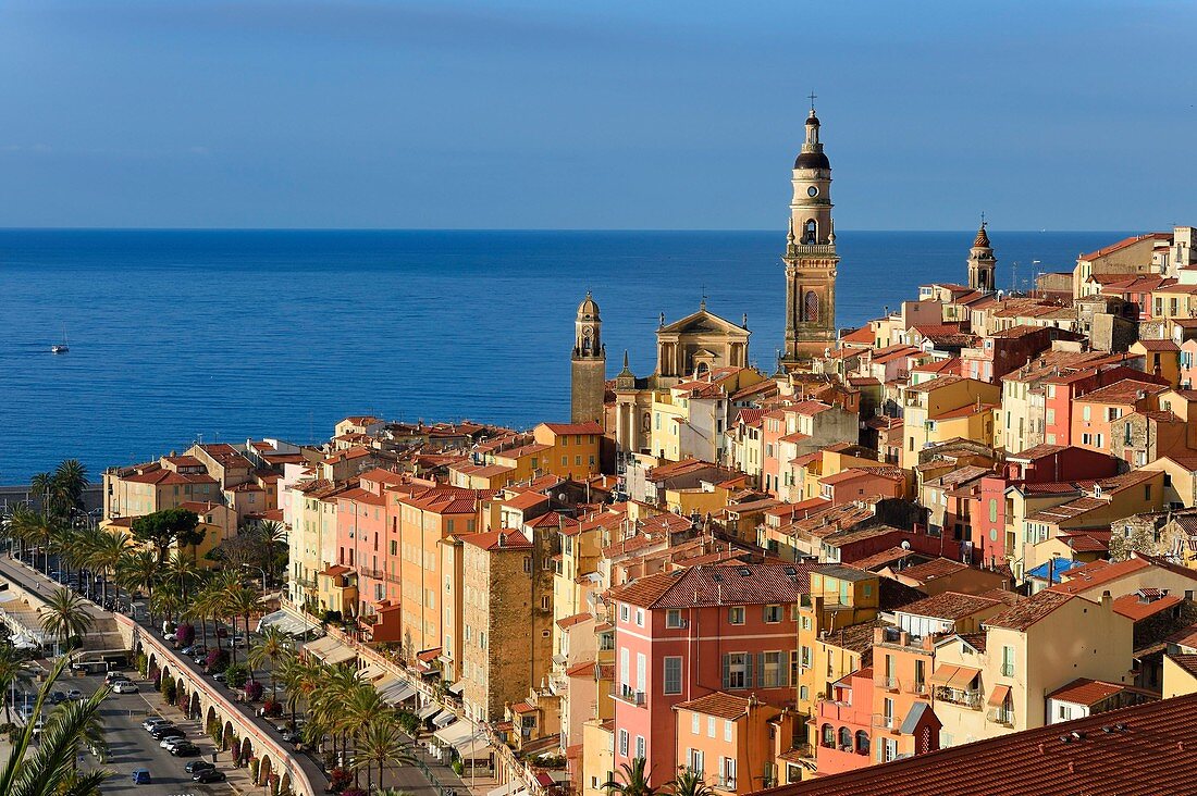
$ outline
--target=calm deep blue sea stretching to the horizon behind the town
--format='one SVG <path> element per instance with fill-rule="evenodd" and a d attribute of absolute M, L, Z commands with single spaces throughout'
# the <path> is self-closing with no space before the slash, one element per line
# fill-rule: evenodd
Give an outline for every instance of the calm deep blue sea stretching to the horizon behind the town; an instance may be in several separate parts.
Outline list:
<path fill-rule="evenodd" d="M 964 281 L 973 232 L 843 232 L 838 322 Z M 1118 232 L 992 231 L 1010 263 L 1071 269 Z M 654 367 L 661 312 L 748 315 L 782 338 L 777 232 L 0 230 L 0 484 L 95 473 L 193 440 L 327 438 L 347 414 L 530 426 L 569 417 L 593 290 L 608 371 Z M 1032 265 L 1032 261 L 1041 261 Z M 51 356 L 63 330 L 71 352 Z"/>

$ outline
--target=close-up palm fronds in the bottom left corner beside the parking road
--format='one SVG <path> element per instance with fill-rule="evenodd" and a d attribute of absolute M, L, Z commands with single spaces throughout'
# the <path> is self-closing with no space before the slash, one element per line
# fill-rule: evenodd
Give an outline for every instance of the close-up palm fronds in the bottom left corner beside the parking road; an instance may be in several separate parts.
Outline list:
<path fill-rule="evenodd" d="M 62 675 L 68 657 L 61 656 L 37 694 L 35 711 L 41 713 L 47 694 Z M 34 723 L 25 725 L 13 742 L 8 759 L 0 768 L 0 794 L 5 796 L 99 796 L 99 786 L 108 778 L 102 768 L 79 776 L 72 770 L 80 739 L 85 739 L 101 715 L 108 688 L 91 698 L 73 701 L 55 712 L 42 729 L 37 751 L 30 754 Z"/>

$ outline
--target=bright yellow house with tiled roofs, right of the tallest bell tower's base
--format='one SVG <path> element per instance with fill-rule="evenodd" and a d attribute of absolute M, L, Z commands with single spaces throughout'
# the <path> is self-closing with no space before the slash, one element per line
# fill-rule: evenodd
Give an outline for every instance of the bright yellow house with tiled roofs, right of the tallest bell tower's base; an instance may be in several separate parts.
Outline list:
<path fill-rule="evenodd" d="M 964 378 L 938 376 L 905 390 L 904 433 L 900 463 L 910 469 L 918 464 L 918 452 L 929 444 L 954 437 L 991 445 L 994 443 L 994 408 L 1001 401 L 996 384 Z"/>

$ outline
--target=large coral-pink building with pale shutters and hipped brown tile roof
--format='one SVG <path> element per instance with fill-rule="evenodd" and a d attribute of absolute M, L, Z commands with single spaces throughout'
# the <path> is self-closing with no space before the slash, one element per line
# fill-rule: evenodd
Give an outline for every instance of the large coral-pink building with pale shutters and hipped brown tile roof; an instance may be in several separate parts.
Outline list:
<path fill-rule="evenodd" d="M 807 565 L 729 564 L 650 575 L 612 591 L 615 619 L 614 768 L 648 760 L 675 776 L 674 706 L 716 691 L 784 707 L 797 680 L 795 604 Z"/>

